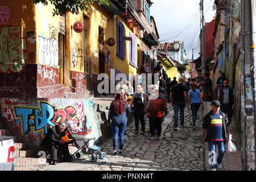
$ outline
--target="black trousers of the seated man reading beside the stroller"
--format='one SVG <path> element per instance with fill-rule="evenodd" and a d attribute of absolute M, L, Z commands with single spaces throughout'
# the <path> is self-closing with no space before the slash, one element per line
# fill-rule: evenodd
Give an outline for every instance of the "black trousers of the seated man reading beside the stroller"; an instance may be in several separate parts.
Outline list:
<path fill-rule="evenodd" d="M 69 154 L 69 150 L 68 150 L 68 142 L 64 143 L 64 144 L 62 144 L 62 143 L 60 143 L 60 144 L 52 143 L 48 147 L 49 147 L 49 151 L 50 151 L 50 155 L 51 155 L 52 160 L 57 160 L 58 151 L 63 153 L 64 160 L 70 158 L 70 154 Z"/>

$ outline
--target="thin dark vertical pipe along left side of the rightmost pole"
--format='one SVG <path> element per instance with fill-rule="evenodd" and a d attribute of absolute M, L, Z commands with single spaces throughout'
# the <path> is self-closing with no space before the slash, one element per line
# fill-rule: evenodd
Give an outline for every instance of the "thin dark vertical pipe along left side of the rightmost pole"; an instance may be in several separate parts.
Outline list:
<path fill-rule="evenodd" d="M 245 0 L 241 0 L 241 157 L 242 171 L 246 170 L 245 136 Z"/>

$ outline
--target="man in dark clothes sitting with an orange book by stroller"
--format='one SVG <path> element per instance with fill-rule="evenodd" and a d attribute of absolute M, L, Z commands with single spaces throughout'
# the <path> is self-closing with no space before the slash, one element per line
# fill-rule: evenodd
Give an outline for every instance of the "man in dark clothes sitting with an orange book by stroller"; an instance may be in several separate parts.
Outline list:
<path fill-rule="evenodd" d="M 50 147 L 51 153 L 51 160 L 52 164 L 57 164 L 57 151 L 63 151 L 64 162 L 71 162 L 69 150 L 68 150 L 68 143 L 64 140 L 61 140 L 61 137 L 64 137 L 67 133 L 71 136 L 71 131 L 69 130 L 68 126 L 65 122 L 61 122 L 56 126 L 53 126 L 51 129 L 48 130 L 46 137 L 43 139 L 43 146 Z"/>

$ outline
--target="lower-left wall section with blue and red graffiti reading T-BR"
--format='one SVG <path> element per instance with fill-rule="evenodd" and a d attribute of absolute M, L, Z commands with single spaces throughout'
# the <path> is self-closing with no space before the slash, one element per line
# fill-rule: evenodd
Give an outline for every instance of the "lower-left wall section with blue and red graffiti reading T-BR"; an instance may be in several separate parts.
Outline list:
<path fill-rule="evenodd" d="M 79 131 L 85 123 L 87 128 L 92 129 L 93 137 L 98 139 L 92 101 L 58 98 L 1 98 L 0 101 L 2 117 L 13 135 L 24 137 L 33 146 L 40 146 L 48 130 L 60 122 L 70 124 L 72 132 L 74 123 Z"/>

